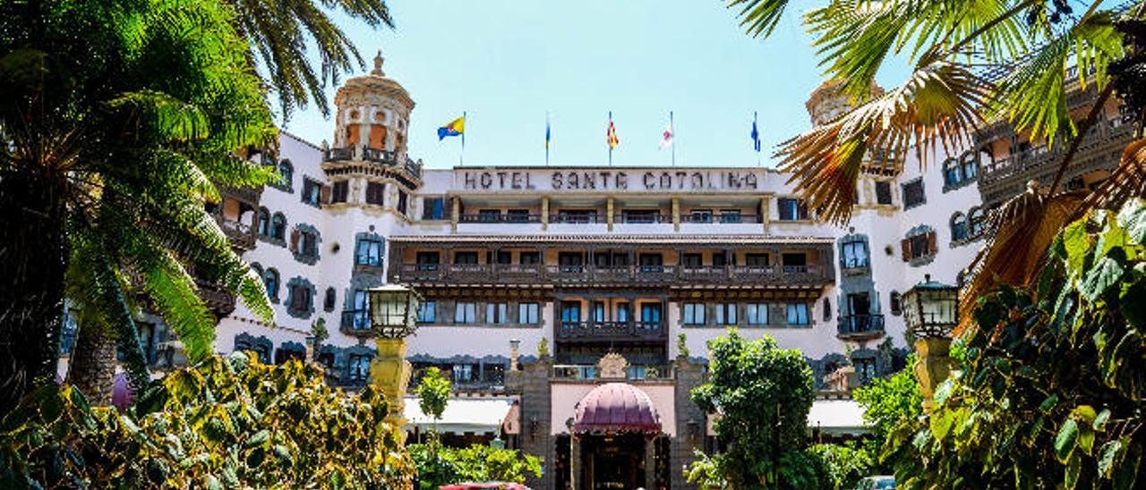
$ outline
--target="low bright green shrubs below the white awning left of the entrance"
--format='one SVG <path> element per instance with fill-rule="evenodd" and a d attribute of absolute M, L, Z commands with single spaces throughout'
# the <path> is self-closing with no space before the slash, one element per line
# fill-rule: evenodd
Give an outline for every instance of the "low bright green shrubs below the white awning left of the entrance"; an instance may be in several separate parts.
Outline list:
<path fill-rule="evenodd" d="M 417 487 L 432 490 L 462 482 L 523 483 L 529 475 L 541 477 L 541 460 L 516 449 L 494 449 L 474 444 L 469 448 L 442 448 L 411 444 L 410 457 L 417 467 Z"/>

